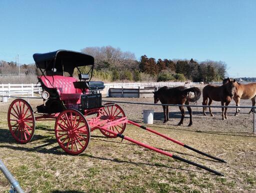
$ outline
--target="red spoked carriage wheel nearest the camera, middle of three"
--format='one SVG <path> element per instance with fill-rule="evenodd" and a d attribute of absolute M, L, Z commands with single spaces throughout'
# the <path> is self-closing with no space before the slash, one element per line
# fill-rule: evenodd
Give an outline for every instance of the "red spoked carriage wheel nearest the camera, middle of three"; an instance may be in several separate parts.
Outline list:
<path fill-rule="evenodd" d="M 59 146 L 69 154 L 79 154 L 87 147 L 90 139 L 89 125 L 78 110 L 66 109 L 55 121 L 55 136 Z"/>

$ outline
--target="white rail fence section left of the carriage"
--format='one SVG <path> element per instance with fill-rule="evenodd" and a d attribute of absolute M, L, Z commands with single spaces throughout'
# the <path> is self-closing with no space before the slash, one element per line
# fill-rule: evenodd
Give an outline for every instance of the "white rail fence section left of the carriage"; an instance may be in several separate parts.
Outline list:
<path fill-rule="evenodd" d="M 39 85 L 40 84 L 0 84 L 0 95 L 27 94 L 34 96 L 34 92 L 41 92 Z"/>

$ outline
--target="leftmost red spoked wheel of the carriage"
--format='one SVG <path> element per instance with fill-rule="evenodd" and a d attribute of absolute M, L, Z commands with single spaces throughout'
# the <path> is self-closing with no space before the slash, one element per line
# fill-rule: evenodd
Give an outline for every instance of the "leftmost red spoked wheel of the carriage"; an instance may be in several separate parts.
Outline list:
<path fill-rule="evenodd" d="M 8 127 L 19 143 L 29 142 L 34 134 L 35 119 L 27 101 L 17 98 L 10 103 L 7 115 Z"/>

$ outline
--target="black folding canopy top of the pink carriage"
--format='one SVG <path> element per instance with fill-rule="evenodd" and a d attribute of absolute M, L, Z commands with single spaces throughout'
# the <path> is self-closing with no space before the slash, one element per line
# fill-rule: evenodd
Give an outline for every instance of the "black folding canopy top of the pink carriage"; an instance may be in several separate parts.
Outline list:
<path fill-rule="evenodd" d="M 71 76 L 74 68 L 94 64 L 94 58 L 85 53 L 59 49 L 48 53 L 34 53 L 33 59 L 36 67 L 45 71 L 46 75 L 63 75 L 68 72 Z M 55 69 L 54 69 L 55 68 Z"/>

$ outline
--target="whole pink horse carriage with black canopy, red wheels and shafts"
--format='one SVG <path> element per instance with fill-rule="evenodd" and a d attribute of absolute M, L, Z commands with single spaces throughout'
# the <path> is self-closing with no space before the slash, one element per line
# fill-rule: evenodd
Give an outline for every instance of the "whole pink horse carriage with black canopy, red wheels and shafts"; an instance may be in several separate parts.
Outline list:
<path fill-rule="evenodd" d="M 75 51 L 57 50 L 48 53 L 35 53 L 33 58 L 37 67 L 38 81 L 42 87 L 43 103 L 36 106 L 36 111 L 33 111 L 30 104 L 24 99 L 16 98 L 11 102 L 7 121 L 10 133 L 17 142 L 27 143 L 32 139 L 35 131 L 35 120 L 55 120 L 56 140 L 59 146 L 69 154 L 79 154 L 84 151 L 90 140 L 90 132 L 99 129 L 106 137 L 120 137 L 217 175 L 222 175 L 206 166 L 124 136 L 122 133 L 126 124 L 133 124 L 197 153 L 225 162 L 128 120 L 122 108 L 115 103 L 102 105 L 99 90 L 104 88 L 104 84 L 101 81 L 90 81 L 94 64 L 92 56 Z M 81 68 L 83 70 L 88 69 L 88 72 L 81 73 Z M 74 70 L 78 72 L 79 80 L 73 77 Z"/>

